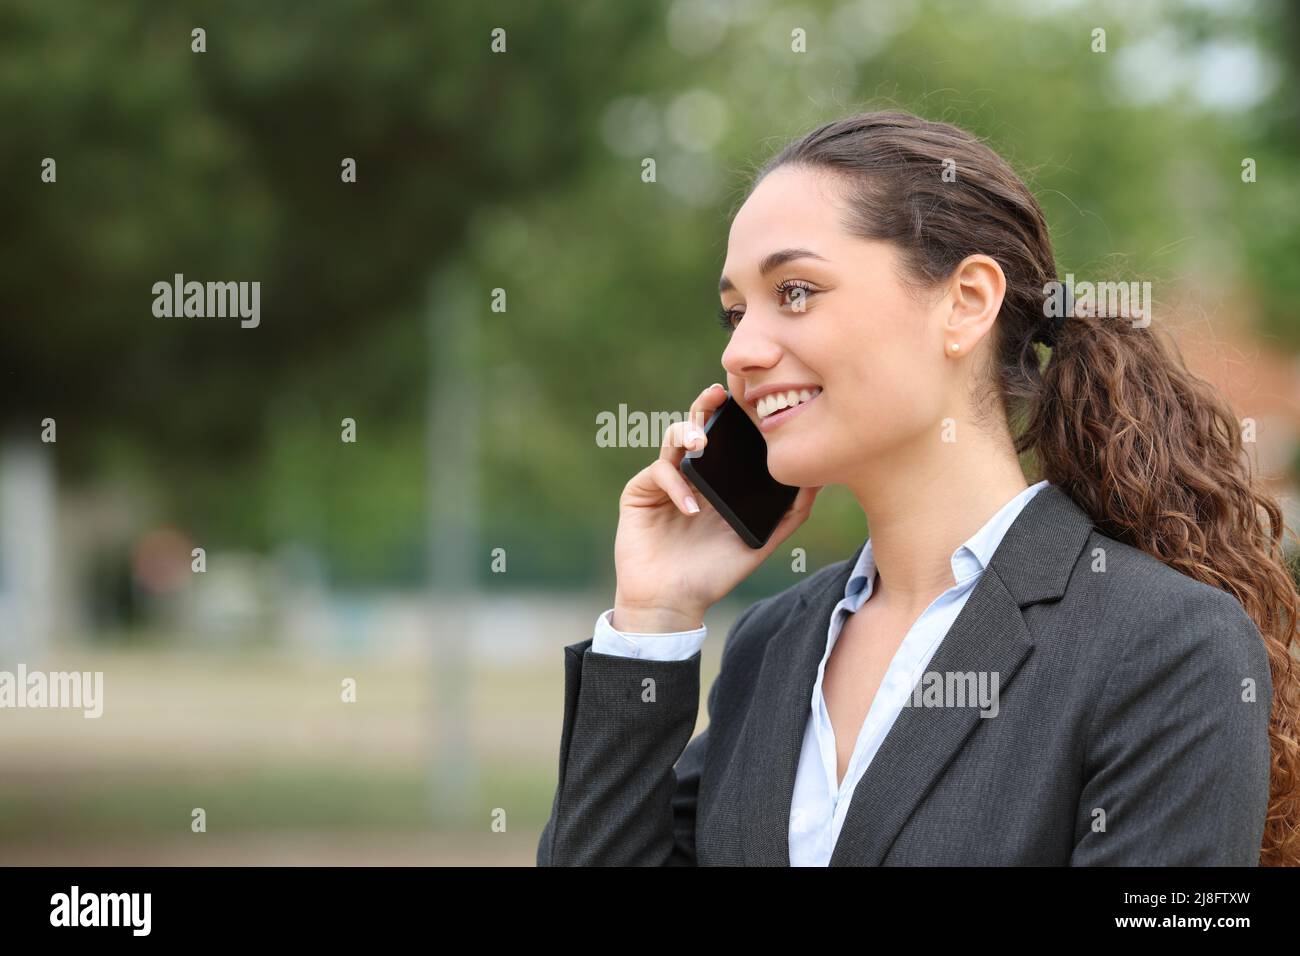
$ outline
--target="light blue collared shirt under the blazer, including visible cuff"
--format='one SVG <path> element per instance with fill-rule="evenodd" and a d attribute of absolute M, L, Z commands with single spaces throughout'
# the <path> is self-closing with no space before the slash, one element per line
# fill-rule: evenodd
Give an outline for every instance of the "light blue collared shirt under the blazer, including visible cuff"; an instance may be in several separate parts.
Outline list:
<path fill-rule="evenodd" d="M 966 605 L 966 598 L 979 583 L 980 575 L 988 567 L 988 562 L 1001 544 L 1006 529 L 1011 527 L 1011 522 L 1030 502 L 1030 498 L 1046 484 L 1046 481 L 1039 481 L 1017 494 L 989 518 L 984 527 L 953 551 L 952 567 L 956 584 L 931 601 L 894 652 L 880 682 L 880 688 L 871 701 L 871 709 L 862 722 L 853 748 L 853 757 L 844 774 L 844 782 L 836 784 L 835 730 L 826 709 L 822 682 L 831 650 L 844 630 L 844 622 L 867 602 L 875 589 L 876 564 L 871 540 L 867 538 L 858 555 L 858 562 L 844 585 L 844 597 L 831 613 L 826 653 L 822 654 L 816 683 L 812 685 L 809 721 L 803 731 L 803 744 L 794 775 L 794 796 L 790 801 L 789 851 L 792 866 L 826 866 L 829 864 L 835 842 L 840 836 L 840 827 L 844 826 L 849 801 L 858 780 L 871 765 L 872 757 L 876 756 L 885 735 L 893 727 L 926 666 L 939 650 L 940 643 Z M 614 630 L 610 623 L 612 615 L 614 609 L 611 607 L 597 618 L 592 650 L 598 654 L 640 657 L 651 661 L 684 661 L 699 650 L 707 633 L 705 627 L 673 633 L 627 633 Z"/>

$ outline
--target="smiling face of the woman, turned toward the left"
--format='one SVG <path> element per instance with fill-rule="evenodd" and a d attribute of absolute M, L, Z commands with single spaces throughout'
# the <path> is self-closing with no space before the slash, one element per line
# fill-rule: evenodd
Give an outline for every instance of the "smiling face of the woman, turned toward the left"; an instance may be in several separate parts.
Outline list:
<path fill-rule="evenodd" d="M 767 467 L 788 485 L 849 484 L 863 466 L 906 468 L 953 415 L 942 295 L 919 303 L 898 280 L 893 246 L 849 235 L 826 173 L 783 166 L 737 212 L 723 267 L 732 315 L 727 388 L 767 440 Z M 800 255 L 764 259 L 788 250 Z M 822 392 L 759 424 L 754 392 Z M 767 411 L 766 407 L 762 411 Z M 932 450 L 932 449 L 931 449 Z"/>

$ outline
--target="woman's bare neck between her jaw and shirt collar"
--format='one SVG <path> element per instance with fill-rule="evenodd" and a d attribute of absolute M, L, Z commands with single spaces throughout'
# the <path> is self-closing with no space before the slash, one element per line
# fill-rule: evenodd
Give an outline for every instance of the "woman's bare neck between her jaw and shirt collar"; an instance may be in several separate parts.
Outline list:
<path fill-rule="evenodd" d="M 1028 488 L 1009 436 L 1004 444 L 959 427 L 962 441 L 927 438 L 846 483 L 871 533 L 880 575 L 872 601 L 924 610 L 957 583 L 953 551 Z"/>

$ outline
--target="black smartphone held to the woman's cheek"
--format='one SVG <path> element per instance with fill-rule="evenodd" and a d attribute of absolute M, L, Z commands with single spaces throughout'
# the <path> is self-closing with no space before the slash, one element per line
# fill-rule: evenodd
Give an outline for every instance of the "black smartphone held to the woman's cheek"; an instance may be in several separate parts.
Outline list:
<path fill-rule="evenodd" d="M 767 471 L 767 440 L 731 395 L 705 423 L 705 434 L 708 444 L 686 453 L 681 473 L 745 544 L 762 548 L 800 489 Z"/>

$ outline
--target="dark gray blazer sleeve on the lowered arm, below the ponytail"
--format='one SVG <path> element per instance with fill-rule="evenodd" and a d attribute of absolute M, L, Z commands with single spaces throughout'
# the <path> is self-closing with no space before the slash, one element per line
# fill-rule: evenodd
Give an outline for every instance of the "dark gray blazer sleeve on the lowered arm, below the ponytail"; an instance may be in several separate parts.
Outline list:
<path fill-rule="evenodd" d="M 1131 635 L 1096 704 L 1071 866 L 1254 866 L 1273 680 L 1235 597 L 1204 585 Z"/>

